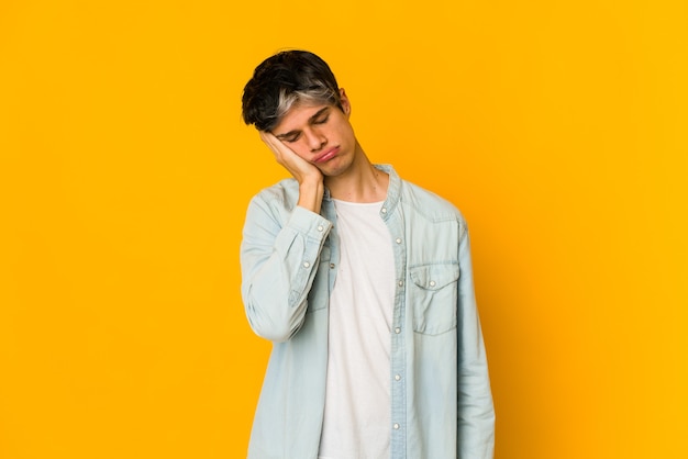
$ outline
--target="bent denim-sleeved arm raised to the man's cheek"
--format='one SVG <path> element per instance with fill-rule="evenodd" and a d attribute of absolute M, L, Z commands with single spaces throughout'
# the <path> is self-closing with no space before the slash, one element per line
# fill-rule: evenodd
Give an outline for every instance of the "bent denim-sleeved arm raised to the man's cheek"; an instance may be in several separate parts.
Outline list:
<path fill-rule="evenodd" d="M 258 336 L 285 342 L 299 331 L 331 228 L 302 206 L 289 212 L 275 209 L 265 194 L 252 200 L 241 246 L 242 298 Z"/>

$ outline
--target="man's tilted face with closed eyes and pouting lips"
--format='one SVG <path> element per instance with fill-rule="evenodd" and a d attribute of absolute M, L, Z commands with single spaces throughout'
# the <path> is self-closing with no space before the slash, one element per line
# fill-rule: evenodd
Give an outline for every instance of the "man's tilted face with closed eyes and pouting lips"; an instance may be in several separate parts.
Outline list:
<path fill-rule="evenodd" d="M 348 122 L 351 105 L 343 90 L 341 96 L 343 111 L 331 104 L 297 103 L 271 131 L 325 177 L 348 170 L 357 154 L 356 137 Z"/>

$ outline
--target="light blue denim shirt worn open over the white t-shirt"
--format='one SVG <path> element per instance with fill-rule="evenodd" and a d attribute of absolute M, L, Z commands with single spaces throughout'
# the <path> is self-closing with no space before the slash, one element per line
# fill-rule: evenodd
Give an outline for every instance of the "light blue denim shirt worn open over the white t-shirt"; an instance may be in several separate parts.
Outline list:
<path fill-rule="evenodd" d="M 390 166 L 379 216 L 395 254 L 391 458 L 488 459 L 495 411 L 473 288 L 466 222 Z M 252 200 L 241 246 L 253 331 L 274 342 L 248 457 L 318 457 L 325 400 L 328 306 L 340 258 L 329 192 L 321 214 L 287 179 Z"/>

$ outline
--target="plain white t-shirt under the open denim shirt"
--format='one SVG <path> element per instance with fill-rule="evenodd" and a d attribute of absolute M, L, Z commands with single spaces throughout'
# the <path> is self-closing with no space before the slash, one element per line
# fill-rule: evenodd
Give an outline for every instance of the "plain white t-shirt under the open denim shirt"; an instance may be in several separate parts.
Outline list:
<path fill-rule="evenodd" d="M 389 457 L 395 259 L 381 202 L 334 200 L 341 258 L 330 298 L 320 459 Z"/>

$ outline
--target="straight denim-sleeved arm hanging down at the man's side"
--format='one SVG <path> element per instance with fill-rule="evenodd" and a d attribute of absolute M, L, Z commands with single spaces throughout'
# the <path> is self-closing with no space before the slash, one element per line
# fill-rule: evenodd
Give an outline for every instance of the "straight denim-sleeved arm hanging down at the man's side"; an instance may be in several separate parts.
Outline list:
<path fill-rule="evenodd" d="M 458 393 L 457 456 L 491 459 L 495 450 L 495 406 L 487 356 L 476 306 L 470 261 L 470 242 L 462 222 L 458 259 Z"/>

